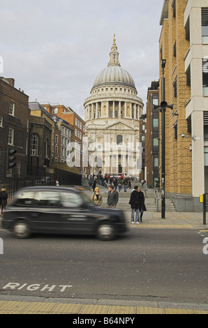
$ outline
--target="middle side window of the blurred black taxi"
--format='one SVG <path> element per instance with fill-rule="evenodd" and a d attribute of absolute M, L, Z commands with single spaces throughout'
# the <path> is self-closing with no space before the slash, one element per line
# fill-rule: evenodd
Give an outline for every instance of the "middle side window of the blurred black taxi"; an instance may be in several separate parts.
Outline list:
<path fill-rule="evenodd" d="M 34 207 L 59 207 L 59 193 L 55 191 L 36 191 Z"/>

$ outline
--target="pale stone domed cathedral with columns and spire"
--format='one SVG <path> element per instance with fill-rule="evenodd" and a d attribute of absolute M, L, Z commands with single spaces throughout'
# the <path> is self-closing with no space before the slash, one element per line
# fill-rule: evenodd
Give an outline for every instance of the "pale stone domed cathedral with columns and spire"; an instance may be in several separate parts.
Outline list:
<path fill-rule="evenodd" d="M 84 102 L 91 174 L 140 174 L 140 116 L 143 106 L 133 77 L 119 63 L 115 36 L 107 68 Z"/>

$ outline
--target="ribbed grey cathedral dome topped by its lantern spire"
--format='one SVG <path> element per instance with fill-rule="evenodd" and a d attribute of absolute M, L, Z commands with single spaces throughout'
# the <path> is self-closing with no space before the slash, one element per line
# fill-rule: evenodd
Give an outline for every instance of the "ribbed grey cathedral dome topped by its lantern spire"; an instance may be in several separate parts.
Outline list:
<path fill-rule="evenodd" d="M 104 84 L 120 84 L 136 90 L 133 77 L 127 72 L 127 70 L 121 68 L 119 63 L 119 52 L 117 51 L 115 36 L 110 52 L 110 62 L 108 63 L 107 68 L 101 70 L 96 76 L 92 90 L 96 87 L 103 86 Z"/>

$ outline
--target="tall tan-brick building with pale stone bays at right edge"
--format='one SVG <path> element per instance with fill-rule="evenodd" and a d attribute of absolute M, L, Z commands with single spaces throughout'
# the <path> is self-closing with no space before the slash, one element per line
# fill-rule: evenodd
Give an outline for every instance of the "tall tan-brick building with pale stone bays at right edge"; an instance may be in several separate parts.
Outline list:
<path fill-rule="evenodd" d="M 165 193 L 178 211 L 200 210 L 200 194 L 208 191 L 207 17 L 207 0 L 163 2 L 160 59 L 165 100 L 174 105 L 165 112 Z"/>

